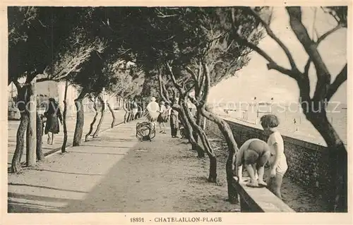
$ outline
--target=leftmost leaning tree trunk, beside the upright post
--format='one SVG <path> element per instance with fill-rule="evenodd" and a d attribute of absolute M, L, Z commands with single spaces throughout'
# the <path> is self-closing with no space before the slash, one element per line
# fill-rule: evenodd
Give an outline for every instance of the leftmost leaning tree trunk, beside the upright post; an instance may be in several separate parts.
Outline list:
<path fill-rule="evenodd" d="M 20 160 L 23 154 L 23 148 L 25 147 L 25 131 L 28 127 L 28 122 L 30 118 L 28 116 L 27 111 L 21 113 L 20 118 L 20 126 L 18 126 L 17 135 L 16 135 L 16 149 L 13 154 L 12 164 L 11 164 L 11 172 L 12 173 L 20 173 Z"/>

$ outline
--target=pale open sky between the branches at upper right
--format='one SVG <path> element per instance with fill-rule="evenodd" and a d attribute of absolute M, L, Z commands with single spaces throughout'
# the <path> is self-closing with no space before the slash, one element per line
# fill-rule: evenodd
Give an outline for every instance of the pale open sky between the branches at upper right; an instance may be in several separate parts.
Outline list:
<path fill-rule="evenodd" d="M 309 35 L 313 34 L 314 12 L 314 7 L 302 7 L 302 21 L 308 29 Z M 273 13 L 270 27 L 291 51 L 299 70 L 304 71 L 308 56 L 289 26 L 287 11 L 285 8 L 275 7 Z M 323 13 L 321 8 L 316 8 L 315 28 L 319 36 L 334 28 L 335 25 L 336 22 L 331 16 Z M 316 38 L 316 35 L 314 37 Z M 273 39 L 266 36 L 258 46 L 269 54 L 277 64 L 289 68 L 287 56 Z M 328 36 L 320 43 L 318 50 L 332 74 L 331 82 L 333 82 L 335 75 L 347 63 L 347 29 L 337 30 Z M 295 80 L 277 71 L 268 71 L 266 64 L 267 61 L 262 56 L 252 52 L 251 61 L 238 71 L 236 76 L 223 80 L 211 88 L 208 102 L 210 104 L 220 101 L 248 102 L 253 101 L 254 97 L 258 101 L 265 102 L 270 101 L 272 97 L 275 102 L 298 102 L 299 89 Z M 316 73 L 313 65 L 309 71 L 309 78 L 312 96 L 316 85 Z M 337 90 L 331 101 L 347 104 L 347 81 Z"/>

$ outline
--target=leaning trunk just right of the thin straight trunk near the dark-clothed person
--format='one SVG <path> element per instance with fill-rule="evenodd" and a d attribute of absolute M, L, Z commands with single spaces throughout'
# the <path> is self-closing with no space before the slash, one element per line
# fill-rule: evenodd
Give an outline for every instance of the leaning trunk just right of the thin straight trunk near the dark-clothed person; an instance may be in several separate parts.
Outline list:
<path fill-rule="evenodd" d="M 83 111 L 83 99 L 87 92 L 82 90 L 77 99 L 75 99 L 76 106 L 76 127 L 75 133 L 73 134 L 73 146 L 80 146 L 82 133 L 83 133 L 83 124 L 85 123 L 85 113 Z"/>

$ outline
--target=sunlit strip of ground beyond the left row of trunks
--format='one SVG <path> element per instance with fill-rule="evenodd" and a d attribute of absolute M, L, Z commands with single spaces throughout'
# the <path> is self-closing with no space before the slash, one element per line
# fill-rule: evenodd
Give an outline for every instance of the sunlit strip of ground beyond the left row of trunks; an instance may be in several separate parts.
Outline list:
<path fill-rule="evenodd" d="M 114 111 L 115 114 L 115 124 L 119 124 L 124 121 L 124 114 L 125 111 L 120 110 L 120 111 Z M 85 123 L 83 126 L 83 140 L 85 140 L 85 135 L 88 133 L 90 130 L 90 123 L 92 123 L 93 117 L 95 116 L 94 113 L 85 113 Z M 97 128 L 98 121 L 100 119 L 100 114 L 97 116 L 97 121 L 95 122 L 94 129 L 92 131 L 92 134 L 95 132 L 95 129 Z M 106 130 L 107 128 L 110 128 L 112 125 L 112 114 L 110 111 L 106 111 L 104 113 L 104 118 L 103 118 L 103 123 L 102 126 L 100 127 L 100 131 Z M 11 166 L 11 161 L 13 158 L 13 153 L 15 152 L 16 149 L 16 134 L 17 134 L 17 129 L 20 124 L 20 121 L 8 121 L 8 167 Z M 73 142 L 73 133 L 75 132 L 75 126 L 76 126 L 76 117 L 70 117 L 66 121 L 66 127 L 68 130 L 68 142 L 66 143 L 66 146 L 71 146 Z M 60 125 L 60 133 L 55 135 L 54 143 L 53 145 L 48 145 L 47 144 L 47 135 L 43 135 L 43 144 L 42 144 L 42 150 L 44 154 L 49 154 L 50 152 L 54 152 L 55 150 L 61 150 L 61 145 L 64 140 L 64 127 Z M 90 137 L 92 138 L 92 137 Z M 25 150 L 23 151 L 23 155 L 21 158 L 21 162 L 25 162 L 26 159 L 26 154 Z"/>

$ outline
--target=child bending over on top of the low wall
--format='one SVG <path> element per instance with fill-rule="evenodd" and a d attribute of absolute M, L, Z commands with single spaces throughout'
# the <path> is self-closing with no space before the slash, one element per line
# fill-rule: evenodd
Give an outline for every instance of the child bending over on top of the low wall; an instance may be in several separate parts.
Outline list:
<path fill-rule="evenodd" d="M 239 183 L 244 182 L 242 176 L 244 165 L 251 178 L 251 181 L 246 183 L 246 186 L 253 188 L 266 186 L 267 184 L 263 181 L 263 174 L 265 164 L 269 158 L 270 147 L 268 147 L 266 142 L 257 138 L 246 140 L 237 152 L 235 169 Z"/>

